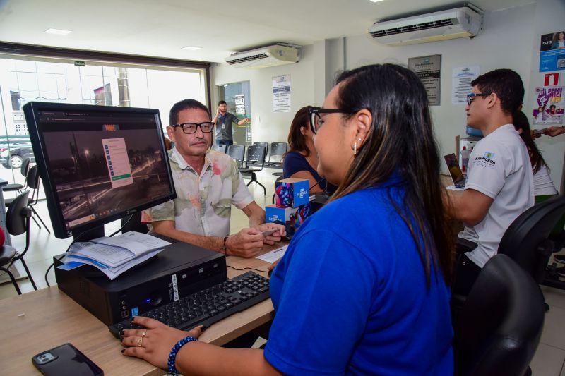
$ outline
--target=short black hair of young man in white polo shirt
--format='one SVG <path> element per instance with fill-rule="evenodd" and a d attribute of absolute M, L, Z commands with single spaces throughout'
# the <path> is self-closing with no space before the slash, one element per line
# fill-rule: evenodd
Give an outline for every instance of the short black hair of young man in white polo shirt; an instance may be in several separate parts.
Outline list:
<path fill-rule="evenodd" d="M 520 75 L 511 69 L 495 69 L 484 73 L 471 82 L 483 94 L 493 92 L 500 99 L 502 111 L 513 114 L 518 111 L 524 100 L 524 84 Z"/>

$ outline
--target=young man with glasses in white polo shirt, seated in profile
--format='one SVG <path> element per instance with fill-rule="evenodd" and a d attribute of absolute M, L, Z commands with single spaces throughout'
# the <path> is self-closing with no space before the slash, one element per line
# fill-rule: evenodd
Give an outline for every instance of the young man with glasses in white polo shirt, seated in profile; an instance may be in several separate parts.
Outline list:
<path fill-rule="evenodd" d="M 450 195 L 451 215 L 465 229 L 459 237 L 477 243 L 461 255 L 453 284 L 467 294 L 477 275 L 496 255 L 504 231 L 534 204 L 532 166 L 524 142 L 512 125 L 524 87 L 518 73 L 496 69 L 473 80 L 467 95 L 467 124 L 482 131 L 469 157 L 463 195 Z"/>

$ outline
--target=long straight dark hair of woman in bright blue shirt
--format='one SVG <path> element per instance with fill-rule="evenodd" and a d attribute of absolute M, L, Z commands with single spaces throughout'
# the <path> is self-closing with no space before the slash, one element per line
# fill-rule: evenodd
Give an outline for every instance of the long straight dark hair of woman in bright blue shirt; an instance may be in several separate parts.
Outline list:
<path fill-rule="evenodd" d="M 362 109 L 373 116 L 371 131 L 332 200 L 379 186 L 393 174 L 405 190 L 403 205 L 389 198 L 414 238 L 429 283 L 432 265 L 450 284 L 455 236 L 448 224 L 440 181 L 439 151 L 432 130 L 427 93 L 412 71 L 393 64 L 343 72 L 336 99 L 344 118 Z M 420 241 L 420 236 L 423 241 Z"/>

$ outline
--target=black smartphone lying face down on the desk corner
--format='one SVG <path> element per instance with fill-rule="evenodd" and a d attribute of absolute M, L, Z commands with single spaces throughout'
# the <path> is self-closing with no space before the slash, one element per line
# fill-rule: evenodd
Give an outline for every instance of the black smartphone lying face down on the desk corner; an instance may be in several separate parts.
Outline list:
<path fill-rule="evenodd" d="M 38 353 L 32 359 L 35 368 L 46 376 L 102 376 L 104 371 L 72 344 L 63 344 Z"/>

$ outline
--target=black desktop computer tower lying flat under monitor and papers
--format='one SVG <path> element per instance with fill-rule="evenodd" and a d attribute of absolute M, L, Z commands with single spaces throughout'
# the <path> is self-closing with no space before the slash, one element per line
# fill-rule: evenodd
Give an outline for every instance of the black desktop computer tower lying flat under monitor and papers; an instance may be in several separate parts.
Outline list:
<path fill-rule="evenodd" d="M 105 325 L 172 303 L 227 279 L 224 255 L 183 242 L 167 245 L 151 260 L 113 281 L 90 265 L 58 269 L 60 257 L 53 257 L 59 289 Z"/>

